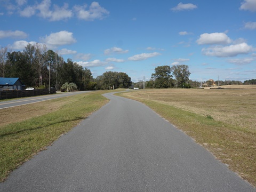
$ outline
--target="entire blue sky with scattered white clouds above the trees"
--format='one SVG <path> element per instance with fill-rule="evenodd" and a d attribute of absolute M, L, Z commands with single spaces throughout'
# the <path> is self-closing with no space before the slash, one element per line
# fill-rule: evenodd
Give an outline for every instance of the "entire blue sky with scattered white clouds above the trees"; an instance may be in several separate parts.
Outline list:
<path fill-rule="evenodd" d="M 0 0 L 0 46 L 45 44 L 92 71 L 148 81 L 188 65 L 193 81 L 256 78 L 256 0 Z"/>

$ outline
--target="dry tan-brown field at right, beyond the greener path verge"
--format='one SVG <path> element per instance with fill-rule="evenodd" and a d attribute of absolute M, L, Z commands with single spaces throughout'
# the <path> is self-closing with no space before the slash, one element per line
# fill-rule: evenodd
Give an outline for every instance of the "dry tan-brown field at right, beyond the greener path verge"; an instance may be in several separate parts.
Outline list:
<path fill-rule="evenodd" d="M 198 115 L 210 115 L 217 121 L 256 133 L 256 90 L 166 89 L 132 92 L 129 96 L 157 101 Z"/>

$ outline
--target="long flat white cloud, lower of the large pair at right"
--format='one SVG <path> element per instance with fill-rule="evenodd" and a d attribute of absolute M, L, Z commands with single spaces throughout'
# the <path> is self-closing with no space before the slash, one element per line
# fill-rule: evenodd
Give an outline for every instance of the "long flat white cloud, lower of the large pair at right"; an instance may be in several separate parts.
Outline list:
<path fill-rule="evenodd" d="M 207 56 L 215 57 L 235 57 L 239 54 L 248 54 L 253 51 L 253 47 L 247 43 L 230 46 L 213 46 L 202 49 L 202 53 Z"/>

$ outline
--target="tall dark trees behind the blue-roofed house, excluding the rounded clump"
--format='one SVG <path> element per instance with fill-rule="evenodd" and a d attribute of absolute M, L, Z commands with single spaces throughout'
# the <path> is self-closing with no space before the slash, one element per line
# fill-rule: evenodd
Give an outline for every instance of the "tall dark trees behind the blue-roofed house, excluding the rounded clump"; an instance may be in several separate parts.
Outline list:
<path fill-rule="evenodd" d="M 71 59 L 65 61 L 58 53 L 47 50 L 45 45 L 28 44 L 21 51 L 0 51 L 2 77 L 19 77 L 26 86 L 60 90 L 65 82 L 73 82 L 80 90 L 91 89 L 90 69 L 83 68 Z"/>

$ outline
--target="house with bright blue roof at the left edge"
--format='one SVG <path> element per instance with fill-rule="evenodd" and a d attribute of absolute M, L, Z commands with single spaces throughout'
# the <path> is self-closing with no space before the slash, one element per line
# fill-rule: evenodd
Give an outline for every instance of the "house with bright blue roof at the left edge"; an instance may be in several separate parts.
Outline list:
<path fill-rule="evenodd" d="M 4 89 L 23 90 L 24 88 L 25 85 L 21 82 L 20 78 L 0 77 L 0 91 Z"/>

